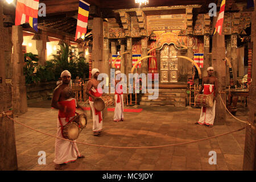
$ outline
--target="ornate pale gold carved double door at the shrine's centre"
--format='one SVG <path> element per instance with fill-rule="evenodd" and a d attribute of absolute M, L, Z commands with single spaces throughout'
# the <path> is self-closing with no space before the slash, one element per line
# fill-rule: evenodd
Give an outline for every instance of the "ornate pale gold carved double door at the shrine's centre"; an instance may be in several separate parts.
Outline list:
<path fill-rule="evenodd" d="M 164 45 L 160 51 L 160 82 L 177 82 L 177 50 L 173 44 Z"/>

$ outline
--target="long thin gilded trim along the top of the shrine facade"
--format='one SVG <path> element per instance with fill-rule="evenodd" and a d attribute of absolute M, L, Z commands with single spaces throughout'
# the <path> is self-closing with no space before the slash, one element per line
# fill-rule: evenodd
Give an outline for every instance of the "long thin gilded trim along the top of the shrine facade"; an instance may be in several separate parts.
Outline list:
<path fill-rule="evenodd" d="M 133 8 L 133 9 L 119 9 L 113 10 L 114 13 L 119 13 L 122 11 L 151 11 L 151 10 L 173 10 L 173 9 L 186 9 L 186 8 L 200 8 L 202 5 L 179 5 L 179 6 L 158 6 L 158 7 L 142 7 L 142 8 Z"/>

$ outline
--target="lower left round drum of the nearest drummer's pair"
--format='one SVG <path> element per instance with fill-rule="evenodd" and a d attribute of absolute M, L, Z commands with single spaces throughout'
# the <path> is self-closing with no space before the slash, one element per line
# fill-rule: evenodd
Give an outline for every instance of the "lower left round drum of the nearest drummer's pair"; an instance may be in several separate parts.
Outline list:
<path fill-rule="evenodd" d="M 69 140 L 76 140 L 79 137 L 79 125 L 76 122 L 69 122 L 64 125 L 63 137 Z"/>

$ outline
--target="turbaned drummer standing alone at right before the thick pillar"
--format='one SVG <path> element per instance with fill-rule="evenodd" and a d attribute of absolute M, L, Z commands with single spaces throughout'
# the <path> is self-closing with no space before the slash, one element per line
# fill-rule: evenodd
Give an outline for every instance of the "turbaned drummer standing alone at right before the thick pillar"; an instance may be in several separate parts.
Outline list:
<path fill-rule="evenodd" d="M 202 94 L 204 89 L 204 94 L 212 94 L 214 95 L 214 104 L 212 107 L 202 107 L 200 119 L 196 124 L 205 125 L 212 127 L 214 118 L 215 118 L 215 104 L 216 104 L 216 96 L 217 96 L 217 78 L 213 76 L 213 67 L 207 68 L 207 77 L 203 78 L 202 86 L 199 90 L 199 93 Z"/>

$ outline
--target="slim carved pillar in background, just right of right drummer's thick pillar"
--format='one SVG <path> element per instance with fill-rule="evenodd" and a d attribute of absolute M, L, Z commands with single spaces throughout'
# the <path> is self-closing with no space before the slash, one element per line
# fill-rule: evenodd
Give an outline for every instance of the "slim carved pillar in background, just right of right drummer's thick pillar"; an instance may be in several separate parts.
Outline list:
<path fill-rule="evenodd" d="M 237 69 L 238 69 L 238 63 L 237 63 L 237 35 L 231 35 L 231 64 L 232 64 L 232 72 L 233 72 L 233 78 L 234 83 L 237 85 Z"/>

